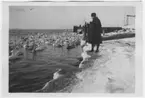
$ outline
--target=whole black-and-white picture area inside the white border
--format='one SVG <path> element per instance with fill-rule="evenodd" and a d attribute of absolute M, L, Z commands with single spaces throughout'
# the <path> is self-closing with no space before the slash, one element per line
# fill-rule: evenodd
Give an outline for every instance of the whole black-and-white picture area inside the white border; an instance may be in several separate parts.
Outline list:
<path fill-rule="evenodd" d="M 123 4 L 9 5 L 8 93 L 135 94 L 140 11 Z"/>

